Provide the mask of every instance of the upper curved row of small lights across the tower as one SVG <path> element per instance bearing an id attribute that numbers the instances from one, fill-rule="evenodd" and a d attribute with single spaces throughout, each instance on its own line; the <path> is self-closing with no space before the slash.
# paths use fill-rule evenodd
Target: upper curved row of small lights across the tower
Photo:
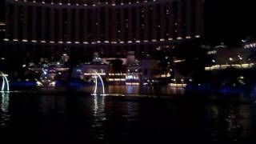
<path id="1" fill-rule="evenodd" d="M 156 0 L 14 0 L 15 2 L 38 2 L 42 4 L 51 4 L 51 5 L 74 5 L 74 6 L 97 6 L 97 5 L 110 5 L 110 6 L 118 6 L 118 5 L 131 5 L 134 3 L 145 3 L 145 2 L 156 2 Z"/>

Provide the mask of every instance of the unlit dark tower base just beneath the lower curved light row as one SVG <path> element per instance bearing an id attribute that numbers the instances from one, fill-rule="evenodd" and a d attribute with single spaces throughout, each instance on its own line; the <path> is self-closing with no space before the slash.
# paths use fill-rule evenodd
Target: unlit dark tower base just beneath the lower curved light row
<path id="1" fill-rule="evenodd" d="M 57 58 L 59 60 L 62 54 L 68 54 L 70 58 L 81 60 L 81 62 L 91 61 L 94 52 L 98 52 L 102 58 L 124 58 L 127 51 L 134 51 L 136 58 L 144 58 L 148 54 L 155 53 L 155 47 L 166 43 L 142 43 L 134 45 L 58 45 L 58 44 L 40 44 L 32 42 L 5 42 L 10 57 L 18 59 L 30 58 L 38 61 L 40 58 Z M 170 42 L 168 46 L 173 46 Z M 6 49 L 7 50 L 7 49 Z M 24 61 L 22 61 L 24 62 Z M 123 75 L 122 75 L 123 76 Z"/>

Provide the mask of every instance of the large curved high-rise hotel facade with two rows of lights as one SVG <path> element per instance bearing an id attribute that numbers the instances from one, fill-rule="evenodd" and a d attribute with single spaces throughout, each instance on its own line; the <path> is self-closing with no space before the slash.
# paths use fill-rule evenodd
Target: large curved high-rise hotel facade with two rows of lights
<path id="1" fill-rule="evenodd" d="M 203 0 L 6 0 L 4 41 L 31 59 L 127 50 L 139 58 L 156 46 L 200 38 L 202 17 Z"/>

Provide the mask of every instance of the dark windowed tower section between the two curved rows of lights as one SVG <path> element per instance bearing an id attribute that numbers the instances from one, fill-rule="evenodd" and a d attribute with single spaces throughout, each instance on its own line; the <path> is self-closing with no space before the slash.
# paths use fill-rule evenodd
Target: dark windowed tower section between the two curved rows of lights
<path id="1" fill-rule="evenodd" d="M 186 27 L 182 27 L 184 29 L 182 34 L 177 35 L 178 20 L 175 14 L 170 15 L 172 13 L 170 6 L 163 7 L 164 13 L 160 5 L 156 6 L 155 12 L 152 6 L 141 6 L 139 9 L 132 9 L 130 16 L 128 9 L 121 11 L 121 9 L 102 8 L 100 12 L 96 11 L 99 13 L 97 18 L 93 18 L 94 10 L 58 10 L 41 6 L 18 6 L 18 18 L 15 18 L 14 6 L 8 7 L 10 16 L 7 18 L 6 38 L 9 39 L 45 39 L 46 41 L 85 39 L 88 42 L 96 39 L 101 42 L 115 40 L 122 43 L 122 41 L 136 42 L 137 40 L 164 41 L 169 38 L 186 38 L 195 34 L 195 27 L 191 27 L 193 32 L 190 30 L 190 34 L 186 33 Z M 18 21 L 18 27 L 15 27 L 16 21 Z M 183 25 L 186 26 L 186 24 Z"/>

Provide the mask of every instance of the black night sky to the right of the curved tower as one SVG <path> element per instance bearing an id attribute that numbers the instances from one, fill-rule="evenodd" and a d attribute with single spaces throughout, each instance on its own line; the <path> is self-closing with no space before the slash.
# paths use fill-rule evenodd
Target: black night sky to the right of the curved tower
<path id="1" fill-rule="evenodd" d="M 235 42 L 256 36 L 254 0 L 205 0 L 205 36 L 212 41 Z"/>

